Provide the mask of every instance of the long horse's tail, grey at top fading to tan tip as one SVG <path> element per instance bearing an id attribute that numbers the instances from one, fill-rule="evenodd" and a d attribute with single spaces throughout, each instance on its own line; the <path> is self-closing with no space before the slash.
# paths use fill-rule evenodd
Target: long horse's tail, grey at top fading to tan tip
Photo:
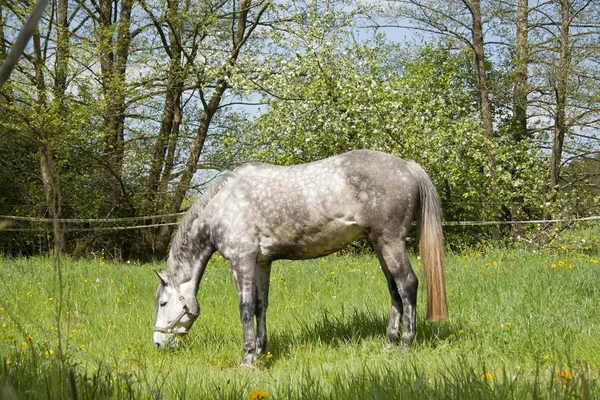
<path id="1" fill-rule="evenodd" d="M 442 232 L 442 205 L 440 196 L 427 173 L 419 164 L 409 162 L 409 170 L 419 182 L 421 207 L 419 247 L 427 281 L 427 319 L 437 321 L 448 317 L 444 234 Z"/>

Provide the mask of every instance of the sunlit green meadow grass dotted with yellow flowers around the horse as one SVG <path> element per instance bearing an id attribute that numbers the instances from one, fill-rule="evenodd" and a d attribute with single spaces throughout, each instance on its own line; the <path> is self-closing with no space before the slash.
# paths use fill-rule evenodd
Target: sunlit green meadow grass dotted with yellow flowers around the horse
<path id="1" fill-rule="evenodd" d="M 174 353 L 152 344 L 164 265 L 1 259 L 2 398 L 450 399 L 599 396 L 598 254 L 450 254 L 450 317 L 424 319 L 408 354 L 384 351 L 389 308 L 375 257 L 273 266 L 269 353 L 241 370 L 228 264 L 213 257 L 201 316 Z M 411 259 L 415 269 L 418 261 Z M 420 271 L 417 271 L 421 276 Z M 62 297 L 62 299 L 61 299 Z"/>

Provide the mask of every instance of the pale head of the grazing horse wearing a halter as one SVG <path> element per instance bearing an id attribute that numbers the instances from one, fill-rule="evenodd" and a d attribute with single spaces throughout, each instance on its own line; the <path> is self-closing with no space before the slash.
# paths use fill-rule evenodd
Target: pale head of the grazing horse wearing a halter
<path id="1" fill-rule="evenodd" d="M 160 283 L 156 291 L 154 310 L 156 325 L 154 326 L 154 344 L 157 349 L 169 346 L 177 347 L 179 338 L 188 333 L 192 324 L 200 314 L 200 306 L 196 296 L 182 293 L 179 285 L 173 284 L 165 271 L 156 272 Z"/>

